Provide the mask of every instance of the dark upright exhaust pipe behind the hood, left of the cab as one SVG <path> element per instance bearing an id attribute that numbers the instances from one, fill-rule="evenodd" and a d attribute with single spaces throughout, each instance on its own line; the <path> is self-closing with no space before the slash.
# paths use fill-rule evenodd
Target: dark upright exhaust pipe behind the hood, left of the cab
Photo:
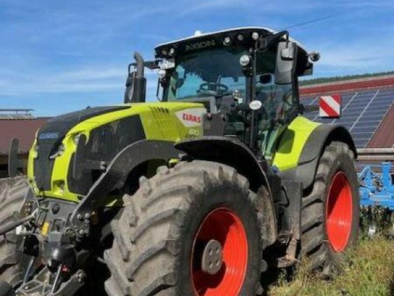
<path id="1" fill-rule="evenodd" d="M 134 52 L 136 71 L 130 72 L 126 80 L 125 103 L 144 103 L 146 101 L 146 78 L 144 77 L 144 59 Z"/>

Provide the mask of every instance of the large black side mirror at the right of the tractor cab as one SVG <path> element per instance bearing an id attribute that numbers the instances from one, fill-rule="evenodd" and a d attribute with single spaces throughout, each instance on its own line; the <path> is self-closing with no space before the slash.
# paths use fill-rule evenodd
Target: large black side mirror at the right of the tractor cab
<path id="1" fill-rule="evenodd" d="M 275 67 L 275 83 L 290 84 L 293 82 L 293 70 L 296 66 L 297 45 L 291 41 L 278 43 Z"/>

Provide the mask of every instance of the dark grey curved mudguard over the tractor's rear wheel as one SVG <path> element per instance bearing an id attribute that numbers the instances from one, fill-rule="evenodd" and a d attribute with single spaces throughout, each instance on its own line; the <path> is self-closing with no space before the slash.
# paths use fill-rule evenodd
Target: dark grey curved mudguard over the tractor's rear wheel
<path id="1" fill-rule="evenodd" d="M 336 124 L 321 124 L 308 137 L 299 156 L 297 167 L 281 172 L 281 177 L 299 181 L 304 189 L 308 188 L 313 184 L 324 148 L 332 141 L 340 141 L 349 145 L 357 158 L 356 146 L 345 127 Z"/>

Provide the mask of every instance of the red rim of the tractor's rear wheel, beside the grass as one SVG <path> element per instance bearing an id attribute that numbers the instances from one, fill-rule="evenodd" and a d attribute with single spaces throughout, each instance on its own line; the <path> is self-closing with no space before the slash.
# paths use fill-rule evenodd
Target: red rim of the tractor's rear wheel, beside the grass
<path id="1" fill-rule="evenodd" d="M 331 248 L 342 252 L 349 241 L 353 221 L 352 187 L 343 172 L 337 172 L 328 189 L 326 228 Z"/>

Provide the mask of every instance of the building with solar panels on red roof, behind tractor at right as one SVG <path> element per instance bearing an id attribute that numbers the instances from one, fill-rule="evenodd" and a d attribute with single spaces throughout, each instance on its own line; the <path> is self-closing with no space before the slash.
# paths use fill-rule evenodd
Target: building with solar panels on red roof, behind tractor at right
<path id="1" fill-rule="evenodd" d="M 300 93 L 306 106 L 318 105 L 320 96 L 341 94 L 340 118 L 320 118 L 318 111 L 306 116 L 344 125 L 355 140 L 360 164 L 394 161 L 394 75 L 315 84 L 301 87 Z"/>

